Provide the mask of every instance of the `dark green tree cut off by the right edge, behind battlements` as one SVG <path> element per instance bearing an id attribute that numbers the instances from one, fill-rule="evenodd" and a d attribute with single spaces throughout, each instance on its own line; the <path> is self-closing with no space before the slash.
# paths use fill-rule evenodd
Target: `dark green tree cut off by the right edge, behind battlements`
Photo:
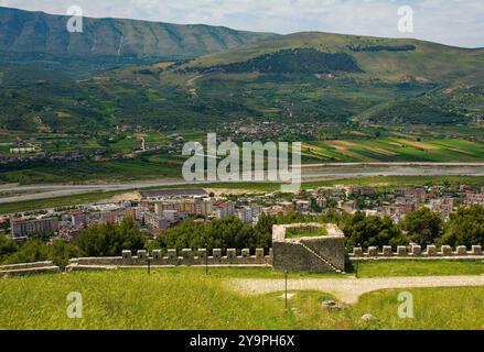
<path id="1" fill-rule="evenodd" d="M 484 207 L 460 208 L 445 224 L 442 245 L 484 245 Z"/>

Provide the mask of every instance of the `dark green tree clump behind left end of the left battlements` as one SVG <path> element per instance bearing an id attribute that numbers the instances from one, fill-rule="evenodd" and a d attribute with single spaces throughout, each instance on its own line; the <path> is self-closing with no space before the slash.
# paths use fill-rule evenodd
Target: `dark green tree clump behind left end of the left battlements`
<path id="1" fill-rule="evenodd" d="M 118 256 L 123 250 L 144 249 L 146 239 L 138 223 L 126 218 L 120 223 L 109 222 L 84 230 L 74 243 L 86 256 Z"/>

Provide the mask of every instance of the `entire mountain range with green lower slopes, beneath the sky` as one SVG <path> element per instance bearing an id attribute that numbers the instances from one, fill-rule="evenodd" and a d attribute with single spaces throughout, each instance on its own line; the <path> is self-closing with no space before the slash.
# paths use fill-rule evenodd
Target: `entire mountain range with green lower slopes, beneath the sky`
<path id="1" fill-rule="evenodd" d="M 68 33 L 66 21 L 0 9 L 0 129 L 455 125 L 483 117 L 484 50 L 117 19 L 85 19 L 84 33 Z"/>

